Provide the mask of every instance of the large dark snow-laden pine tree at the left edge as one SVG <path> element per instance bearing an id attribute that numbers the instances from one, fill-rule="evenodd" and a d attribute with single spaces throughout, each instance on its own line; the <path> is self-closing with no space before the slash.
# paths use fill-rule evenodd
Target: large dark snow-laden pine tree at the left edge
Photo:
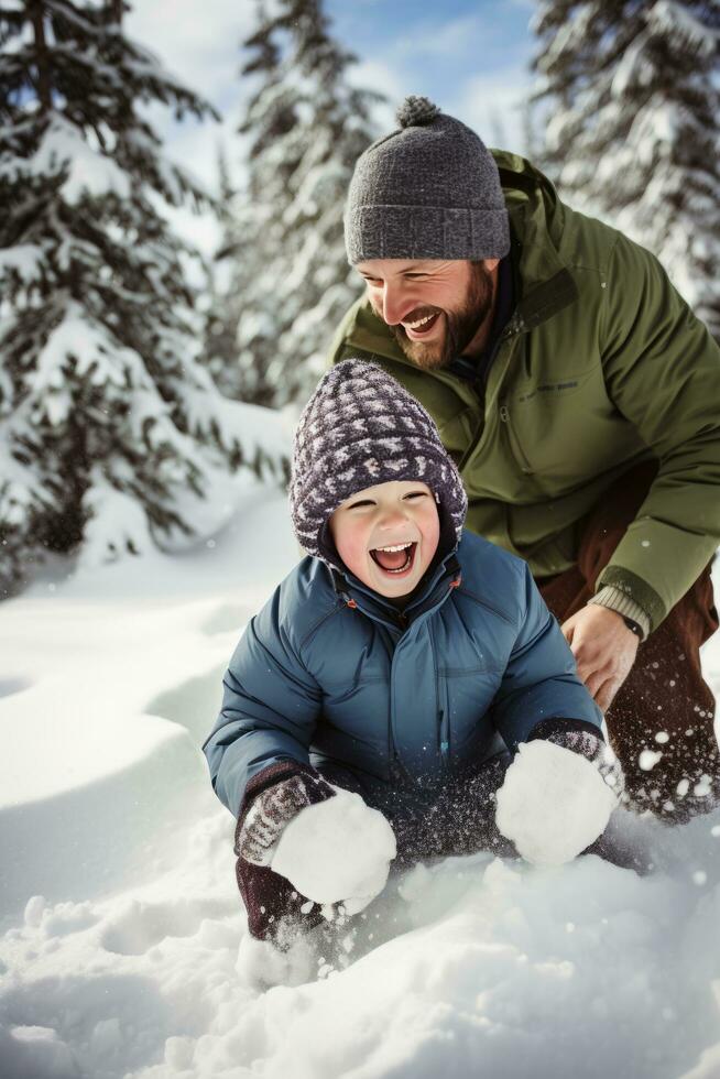
<path id="1" fill-rule="evenodd" d="M 156 208 L 204 195 L 138 106 L 212 110 L 124 36 L 127 10 L 0 2 L 2 591 L 43 549 L 190 532 L 188 494 L 243 458 Z"/>

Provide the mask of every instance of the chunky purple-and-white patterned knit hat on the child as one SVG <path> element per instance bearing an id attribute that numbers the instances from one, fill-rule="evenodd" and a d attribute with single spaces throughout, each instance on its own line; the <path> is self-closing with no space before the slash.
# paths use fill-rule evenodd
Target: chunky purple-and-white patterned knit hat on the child
<path id="1" fill-rule="evenodd" d="M 375 363 L 343 360 L 324 374 L 295 433 L 290 512 L 299 544 L 340 569 L 327 523 L 357 491 L 421 480 L 440 511 L 440 544 L 457 543 L 468 499 L 433 419 Z"/>

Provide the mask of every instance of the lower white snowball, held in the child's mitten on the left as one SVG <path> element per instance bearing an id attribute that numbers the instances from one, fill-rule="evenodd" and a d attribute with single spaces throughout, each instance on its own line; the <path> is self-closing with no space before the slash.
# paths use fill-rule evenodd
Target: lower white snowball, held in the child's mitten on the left
<path id="1" fill-rule="evenodd" d="M 342 903 L 347 914 L 357 914 L 388 882 L 395 835 L 359 794 L 335 791 L 334 798 L 302 809 L 283 829 L 271 868 L 308 900 Z"/>

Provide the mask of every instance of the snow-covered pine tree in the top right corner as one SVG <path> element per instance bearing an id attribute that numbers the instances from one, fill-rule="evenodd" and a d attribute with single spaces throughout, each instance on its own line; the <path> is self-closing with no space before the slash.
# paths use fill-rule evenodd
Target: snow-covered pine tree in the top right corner
<path id="1" fill-rule="evenodd" d="M 720 339 L 718 0 L 543 0 L 535 31 L 560 192 L 653 251 Z"/>

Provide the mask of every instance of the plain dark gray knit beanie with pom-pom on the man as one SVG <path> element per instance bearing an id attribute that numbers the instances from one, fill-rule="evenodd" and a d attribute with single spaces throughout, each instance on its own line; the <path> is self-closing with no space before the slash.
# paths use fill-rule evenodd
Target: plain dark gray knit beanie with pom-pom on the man
<path id="1" fill-rule="evenodd" d="M 406 97 L 399 131 L 358 159 L 345 210 L 348 262 L 502 259 L 508 210 L 492 154 L 426 97 Z"/>

